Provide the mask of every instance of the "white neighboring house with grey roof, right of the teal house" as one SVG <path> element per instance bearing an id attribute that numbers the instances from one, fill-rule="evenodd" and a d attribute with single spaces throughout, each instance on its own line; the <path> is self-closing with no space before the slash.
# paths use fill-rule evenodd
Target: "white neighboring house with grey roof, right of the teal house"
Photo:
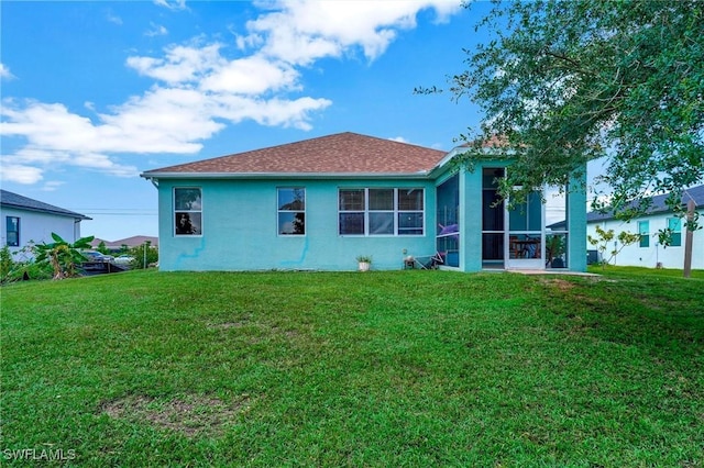
<path id="1" fill-rule="evenodd" d="M 684 243 L 686 227 L 685 220 L 676 218 L 664 203 L 667 194 L 652 198 L 652 205 L 648 214 L 634 219 L 628 223 L 615 220 L 612 213 L 591 212 L 586 215 L 586 231 L 591 236 L 595 236 L 595 226 L 601 226 L 605 231 L 614 230 L 618 235 L 622 231 L 632 234 L 640 234 L 640 242 L 623 248 L 612 264 L 623 266 L 638 266 L 654 268 L 660 264 L 663 268 L 682 268 L 684 266 Z M 688 189 L 682 197 L 682 203 L 694 200 L 695 211 L 700 214 L 698 224 L 704 224 L 704 186 Z M 674 234 L 670 246 L 660 245 L 658 232 L 670 227 Z M 608 246 L 607 252 L 613 249 Z M 594 249 L 587 245 L 587 249 Z M 607 257 L 609 255 L 606 255 Z M 704 230 L 697 230 L 693 236 L 692 268 L 704 269 Z"/>

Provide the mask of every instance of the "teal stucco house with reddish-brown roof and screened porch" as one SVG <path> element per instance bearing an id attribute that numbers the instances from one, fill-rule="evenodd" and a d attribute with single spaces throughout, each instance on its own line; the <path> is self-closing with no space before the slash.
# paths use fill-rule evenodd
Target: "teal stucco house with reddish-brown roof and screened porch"
<path id="1" fill-rule="evenodd" d="M 373 269 L 586 268 L 582 183 L 508 210 L 496 180 L 509 157 L 470 169 L 460 153 L 340 133 L 145 171 L 160 268 L 354 270 L 362 255 Z"/>

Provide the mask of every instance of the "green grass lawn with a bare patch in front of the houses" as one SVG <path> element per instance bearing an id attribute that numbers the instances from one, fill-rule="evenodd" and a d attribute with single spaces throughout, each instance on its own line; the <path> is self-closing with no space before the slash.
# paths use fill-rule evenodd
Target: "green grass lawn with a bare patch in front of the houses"
<path id="1" fill-rule="evenodd" d="M 704 466 L 701 276 L 134 271 L 0 294 L 2 464 Z"/>

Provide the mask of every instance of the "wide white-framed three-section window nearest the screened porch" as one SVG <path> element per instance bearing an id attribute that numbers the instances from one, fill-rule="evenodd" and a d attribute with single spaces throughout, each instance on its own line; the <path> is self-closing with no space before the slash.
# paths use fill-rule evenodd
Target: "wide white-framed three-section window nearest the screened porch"
<path id="1" fill-rule="evenodd" d="M 339 190 L 340 235 L 424 235 L 425 191 L 419 188 Z"/>

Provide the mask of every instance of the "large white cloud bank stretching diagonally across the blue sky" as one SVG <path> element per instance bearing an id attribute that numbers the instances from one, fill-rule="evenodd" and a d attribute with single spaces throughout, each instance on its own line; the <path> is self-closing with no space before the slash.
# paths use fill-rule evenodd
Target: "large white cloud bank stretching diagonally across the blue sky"
<path id="1" fill-rule="evenodd" d="M 186 9 L 183 0 L 155 3 Z M 447 0 L 299 0 L 271 7 L 237 37 L 235 57 L 228 44 L 202 36 L 155 56 L 129 57 L 125 65 L 154 83 L 106 111 L 86 102 L 92 118 L 62 103 L 6 99 L 0 135 L 24 140 L 25 146 L 3 155 L 3 179 L 36 183 L 45 170 L 65 165 L 131 177 L 136 168 L 120 164 L 118 154 L 194 154 L 226 125 L 245 120 L 310 130 L 314 116 L 332 102 L 301 96 L 302 67 L 360 49 L 374 59 L 398 31 L 415 26 L 419 11 L 433 9 L 442 20 L 460 9 Z M 151 31 L 166 33 L 162 27 L 152 23 Z M 11 77 L 1 64 L 0 75 Z"/>

